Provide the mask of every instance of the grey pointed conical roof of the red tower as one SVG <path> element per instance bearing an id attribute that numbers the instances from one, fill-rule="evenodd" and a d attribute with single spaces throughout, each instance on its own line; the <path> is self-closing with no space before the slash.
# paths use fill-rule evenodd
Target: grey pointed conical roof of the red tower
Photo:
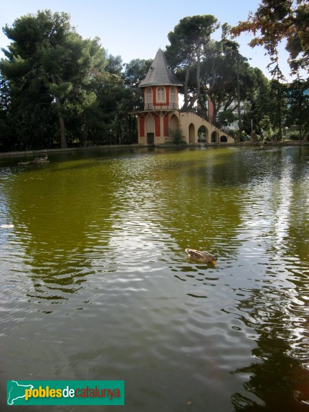
<path id="1" fill-rule="evenodd" d="M 182 86 L 183 84 L 172 72 L 168 60 L 161 49 L 158 50 L 146 78 L 139 83 L 139 87 L 147 86 Z"/>

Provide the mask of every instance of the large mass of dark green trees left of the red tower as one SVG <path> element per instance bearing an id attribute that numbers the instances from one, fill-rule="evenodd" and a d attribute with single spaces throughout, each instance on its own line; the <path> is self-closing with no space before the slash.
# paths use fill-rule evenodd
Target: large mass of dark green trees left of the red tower
<path id="1" fill-rule="evenodd" d="M 108 56 L 99 38 L 82 39 L 66 13 L 28 14 L 4 32 L 12 43 L 0 68 L 10 84 L 6 118 L 15 146 L 66 147 L 121 139 L 115 119 L 124 122 L 128 117 L 123 111 L 131 108 L 132 93 L 124 84 L 120 56 Z"/>

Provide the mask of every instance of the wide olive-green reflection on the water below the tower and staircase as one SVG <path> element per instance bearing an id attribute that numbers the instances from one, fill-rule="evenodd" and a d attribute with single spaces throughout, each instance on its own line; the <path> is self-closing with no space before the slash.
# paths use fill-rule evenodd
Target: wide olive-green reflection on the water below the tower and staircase
<path id="1" fill-rule="evenodd" d="M 151 199 L 152 214 L 160 215 L 158 223 L 162 221 L 163 230 L 181 249 L 194 245 L 220 253 L 221 257 L 233 256 L 242 243 L 238 235 L 244 205 L 248 206 L 247 218 L 251 218 L 251 191 L 259 194 L 259 202 L 265 201 L 264 190 L 273 196 L 271 192 L 282 177 L 282 159 L 290 156 L 280 148 L 155 152 L 157 156 L 148 157 L 148 169 L 143 171 L 144 183 L 148 183 L 143 196 Z M 297 149 L 292 154 L 299 159 Z M 140 165 L 136 166 L 138 172 Z M 259 203 L 259 214 L 267 214 L 260 207 Z"/>

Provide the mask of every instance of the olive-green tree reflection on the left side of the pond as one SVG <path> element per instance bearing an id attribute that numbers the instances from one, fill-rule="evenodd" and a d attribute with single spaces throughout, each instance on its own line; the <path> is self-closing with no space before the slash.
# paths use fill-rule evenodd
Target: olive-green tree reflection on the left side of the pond
<path id="1" fill-rule="evenodd" d="M 98 159 L 75 159 L 28 167 L 12 179 L 8 196 L 30 297 L 67 299 L 93 273 L 111 230 L 113 176 L 107 182 L 102 170 Z"/>

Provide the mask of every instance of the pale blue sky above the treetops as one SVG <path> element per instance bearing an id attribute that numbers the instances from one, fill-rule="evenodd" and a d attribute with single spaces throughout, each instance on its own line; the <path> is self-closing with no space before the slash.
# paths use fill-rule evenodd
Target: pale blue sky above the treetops
<path id="1" fill-rule="evenodd" d="M 168 45 L 168 32 L 179 20 L 196 14 L 213 14 L 220 23 L 236 25 L 246 20 L 249 12 L 257 10 L 260 0 L 10 0 L 1 4 L 0 25 L 12 25 L 24 14 L 36 14 L 37 10 L 50 9 L 53 12 L 68 12 L 71 25 L 84 38 L 99 36 L 102 46 L 114 56 L 122 56 L 123 62 L 134 58 L 154 58 L 157 49 Z M 157 27 L 157 28 L 156 28 Z M 219 39 L 220 33 L 214 38 Z M 247 44 L 248 34 L 242 34 L 237 41 L 240 53 L 251 58 L 250 64 L 259 67 L 269 78 L 266 66 L 268 57 L 262 47 L 251 49 Z M 9 39 L 0 33 L 0 47 L 6 47 Z M 3 54 L 0 54 L 3 56 Z M 280 65 L 287 80 L 288 55 L 284 46 L 280 47 Z"/>

